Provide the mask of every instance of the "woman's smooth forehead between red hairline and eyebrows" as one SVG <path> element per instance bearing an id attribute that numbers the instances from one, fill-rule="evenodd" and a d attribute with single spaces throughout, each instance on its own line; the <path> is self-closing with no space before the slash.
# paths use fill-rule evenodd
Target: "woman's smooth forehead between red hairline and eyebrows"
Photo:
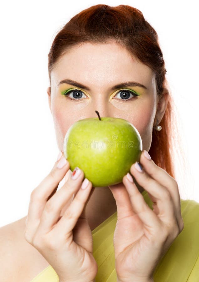
<path id="1" fill-rule="evenodd" d="M 54 65 L 52 83 L 65 78 L 99 85 L 133 79 L 150 86 L 155 76 L 151 68 L 116 42 L 86 42 L 72 47 Z"/>

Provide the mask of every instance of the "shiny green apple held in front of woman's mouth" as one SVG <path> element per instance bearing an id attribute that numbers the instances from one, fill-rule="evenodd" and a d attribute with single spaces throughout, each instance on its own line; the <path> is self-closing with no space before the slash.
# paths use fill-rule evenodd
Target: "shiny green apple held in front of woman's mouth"
<path id="1" fill-rule="evenodd" d="M 93 187 L 115 185 L 142 153 L 138 130 L 122 118 L 85 118 L 73 123 L 64 137 L 70 170 L 78 166 Z"/>

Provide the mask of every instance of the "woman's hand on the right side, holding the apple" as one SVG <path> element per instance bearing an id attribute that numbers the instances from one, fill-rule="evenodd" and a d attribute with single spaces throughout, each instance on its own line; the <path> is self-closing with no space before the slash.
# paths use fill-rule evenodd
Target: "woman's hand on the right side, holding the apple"
<path id="1" fill-rule="evenodd" d="M 153 210 L 126 175 L 121 183 L 109 186 L 117 205 L 113 244 L 118 282 L 153 281 L 158 262 L 184 228 L 176 180 L 144 151 L 140 164 L 142 172 L 133 164 L 130 173 L 147 191 Z"/>

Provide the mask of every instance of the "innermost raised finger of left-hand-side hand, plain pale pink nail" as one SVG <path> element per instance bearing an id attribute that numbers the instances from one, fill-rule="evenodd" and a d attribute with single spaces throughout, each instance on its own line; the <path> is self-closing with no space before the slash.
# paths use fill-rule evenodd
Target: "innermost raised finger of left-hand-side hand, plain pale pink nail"
<path id="1" fill-rule="evenodd" d="M 59 222 L 54 227 L 54 232 L 56 234 L 57 233 L 64 234 L 65 239 L 71 236 L 71 231 L 75 227 L 78 218 L 82 214 L 84 210 L 84 206 L 86 205 L 86 203 L 88 203 L 87 200 L 89 198 L 89 194 L 92 189 L 92 183 L 89 180 L 87 180 L 87 178 L 85 178 L 84 181 L 88 182 L 86 188 L 82 189 L 81 188 L 82 186 L 80 187 L 71 205 L 66 210 L 63 217 L 60 218 Z"/>

